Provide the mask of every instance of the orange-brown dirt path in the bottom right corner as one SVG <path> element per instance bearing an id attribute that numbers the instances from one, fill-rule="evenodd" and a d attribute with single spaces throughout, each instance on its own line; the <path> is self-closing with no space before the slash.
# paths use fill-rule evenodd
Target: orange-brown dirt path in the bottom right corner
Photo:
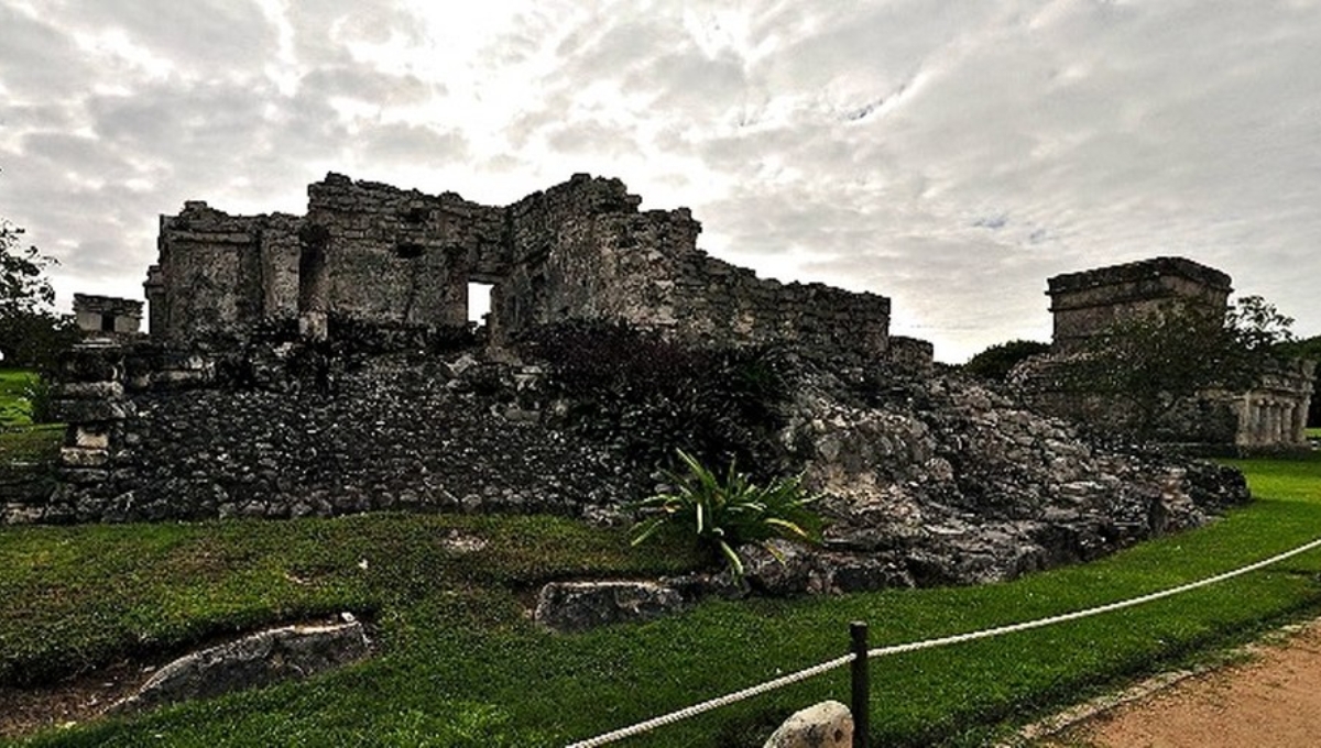
<path id="1" fill-rule="evenodd" d="M 1287 637 L 1268 637 L 1244 662 L 1180 679 L 1038 745 L 1321 745 L 1321 620 Z"/>

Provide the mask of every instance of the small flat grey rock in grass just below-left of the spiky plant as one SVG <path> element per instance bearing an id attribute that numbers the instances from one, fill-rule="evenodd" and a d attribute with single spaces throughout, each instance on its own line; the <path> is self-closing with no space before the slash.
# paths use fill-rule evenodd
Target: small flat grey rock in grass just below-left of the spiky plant
<path id="1" fill-rule="evenodd" d="M 616 623 L 641 623 L 682 609 L 683 595 L 655 582 L 553 582 L 536 599 L 536 623 L 580 632 Z"/>

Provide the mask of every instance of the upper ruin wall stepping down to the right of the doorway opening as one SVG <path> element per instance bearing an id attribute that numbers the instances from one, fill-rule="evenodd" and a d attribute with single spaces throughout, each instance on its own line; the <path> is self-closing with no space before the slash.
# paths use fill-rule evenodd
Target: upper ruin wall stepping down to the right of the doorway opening
<path id="1" fill-rule="evenodd" d="M 687 208 L 639 212 L 639 202 L 617 179 L 580 174 L 518 203 L 513 272 L 495 290 L 506 330 L 624 319 L 705 343 L 885 352 L 885 297 L 758 278 L 699 249 L 701 224 Z"/>

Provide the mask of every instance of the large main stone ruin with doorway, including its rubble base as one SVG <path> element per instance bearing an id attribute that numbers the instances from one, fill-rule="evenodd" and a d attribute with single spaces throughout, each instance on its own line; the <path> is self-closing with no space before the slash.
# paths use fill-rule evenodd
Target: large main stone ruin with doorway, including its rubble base
<path id="1" fill-rule="evenodd" d="M 889 335 L 889 299 L 761 280 L 697 249 L 684 208 L 639 211 L 575 175 L 510 206 L 330 174 L 305 216 L 201 202 L 161 219 L 147 340 L 77 348 L 53 491 L 5 522 L 548 512 L 596 522 L 657 489 L 654 462 L 584 429 L 540 326 L 626 323 L 683 346 L 768 346 L 789 394 L 768 439 L 828 522 L 768 591 L 1005 579 L 1196 526 L 1242 476 L 1089 442 Z M 491 286 L 477 334 L 469 284 Z M 744 466 L 753 467 L 753 466 Z"/>

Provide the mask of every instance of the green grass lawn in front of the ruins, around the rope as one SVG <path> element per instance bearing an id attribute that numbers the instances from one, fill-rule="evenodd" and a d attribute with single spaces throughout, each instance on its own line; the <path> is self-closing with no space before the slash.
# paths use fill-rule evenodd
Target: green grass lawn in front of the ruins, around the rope
<path id="1" fill-rule="evenodd" d="M 1321 536 L 1321 458 L 1236 464 L 1260 500 L 1086 566 L 983 587 L 711 602 L 576 636 L 530 623 L 530 591 L 699 559 L 546 517 L 0 528 L 0 682 L 350 609 L 376 627 L 374 661 L 30 744 L 563 745 L 838 657 L 851 620 L 869 621 L 873 646 L 976 631 L 1168 588 Z M 448 550 L 454 532 L 489 545 Z M 873 743 L 983 744 L 1007 724 L 1321 611 L 1318 573 L 1321 551 L 1308 553 L 1100 617 L 873 661 Z M 621 745 L 761 745 L 787 712 L 847 694 L 840 670 Z"/>

